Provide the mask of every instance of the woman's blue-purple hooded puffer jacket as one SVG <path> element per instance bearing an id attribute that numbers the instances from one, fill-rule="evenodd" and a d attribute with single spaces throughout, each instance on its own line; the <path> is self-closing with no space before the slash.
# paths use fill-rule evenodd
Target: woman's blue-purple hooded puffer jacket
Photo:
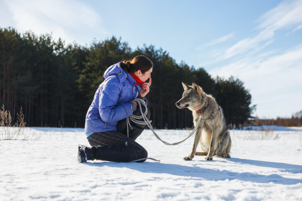
<path id="1" fill-rule="evenodd" d="M 116 124 L 133 114 L 130 101 L 137 98 L 140 86 L 120 67 L 120 62 L 104 73 L 104 82 L 95 92 L 85 120 L 85 134 L 116 130 Z M 147 100 L 145 99 L 147 104 Z"/>

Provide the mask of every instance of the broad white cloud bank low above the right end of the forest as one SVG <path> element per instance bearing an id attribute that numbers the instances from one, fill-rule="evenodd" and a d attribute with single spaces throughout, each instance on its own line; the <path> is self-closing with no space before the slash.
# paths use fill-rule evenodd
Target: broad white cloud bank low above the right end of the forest
<path id="1" fill-rule="evenodd" d="M 243 80 L 251 90 L 253 103 L 258 104 L 256 114 L 272 118 L 291 115 L 300 110 L 295 107 L 302 101 L 302 44 L 283 54 L 272 53 L 245 57 L 215 68 L 210 74 Z"/>

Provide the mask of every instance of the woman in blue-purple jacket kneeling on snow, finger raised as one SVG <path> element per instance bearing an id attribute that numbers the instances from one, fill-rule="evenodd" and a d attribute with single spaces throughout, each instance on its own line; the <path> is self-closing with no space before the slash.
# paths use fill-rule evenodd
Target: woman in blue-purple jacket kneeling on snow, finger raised
<path id="1" fill-rule="evenodd" d="M 140 103 L 133 102 L 134 99 L 143 99 L 147 105 L 145 96 L 149 93 L 152 70 L 150 59 L 139 55 L 105 71 L 105 80 L 98 87 L 86 114 L 85 134 L 92 147 L 79 146 L 79 162 L 94 159 L 130 162 L 147 158 L 146 149 L 134 141 L 144 130 L 144 125 L 130 122 L 133 129 L 129 129 L 127 137 L 126 118 L 133 113 L 141 115 L 137 109 Z M 148 78 L 149 83 L 145 83 Z M 145 107 L 142 109 L 144 112 Z M 149 110 L 147 117 L 150 117 Z"/>

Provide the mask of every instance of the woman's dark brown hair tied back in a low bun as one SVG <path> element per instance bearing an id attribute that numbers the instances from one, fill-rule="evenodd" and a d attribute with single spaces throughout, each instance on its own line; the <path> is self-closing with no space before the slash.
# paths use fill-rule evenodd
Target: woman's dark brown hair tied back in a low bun
<path id="1" fill-rule="evenodd" d="M 142 74 L 144 74 L 153 67 L 153 63 L 148 57 L 144 55 L 138 55 L 131 61 L 123 61 L 122 63 L 120 63 L 120 67 L 124 68 L 128 73 L 134 73 L 140 70 L 142 71 Z"/>

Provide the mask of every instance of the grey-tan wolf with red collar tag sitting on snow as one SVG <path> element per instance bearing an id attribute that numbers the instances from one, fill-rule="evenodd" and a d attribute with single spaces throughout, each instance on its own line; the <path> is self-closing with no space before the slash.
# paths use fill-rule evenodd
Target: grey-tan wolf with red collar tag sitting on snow
<path id="1" fill-rule="evenodd" d="M 192 83 L 192 86 L 189 86 L 182 82 L 182 86 L 185 91 L 182 98 L 176 102 L 176 106 L 191 110 L 194 127 L 198 126 L 194 133 L 191 153 L 184 160 L 192 160 L 194 155 L 206 155 L 206 160 L 213 160 L 213 155 L 230 158 L 231 137 L 226 128 L 222 108 L 213 96 L 204 93 L 197 84 Z M 198 113 L 198 110 L 201 113 Z M 199 115 L 203 115 L 203 117 L 196 125 Z M 202 152 L 196 152 L 198 143 Z"/>

